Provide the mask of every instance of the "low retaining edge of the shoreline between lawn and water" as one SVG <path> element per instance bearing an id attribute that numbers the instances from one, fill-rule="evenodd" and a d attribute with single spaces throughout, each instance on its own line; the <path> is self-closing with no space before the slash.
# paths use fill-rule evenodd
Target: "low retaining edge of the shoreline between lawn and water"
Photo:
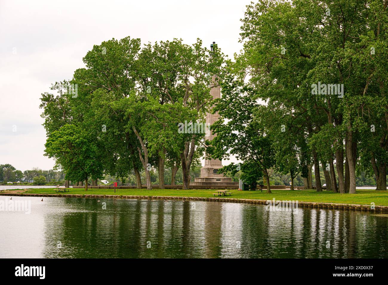
<path id="1" fill-rule="evenodd" d="M 0 196 L 26 196 L 26 197 L 68 197 L 68 198 L 105 198 L 105 199 L 141 199 L 141 200 L 191 200 L 204 202 L 229 202 L 243 204 L 267 205 L 267 200 L 242 199 L 226 197 L 183 197 L 183 196 L 143 196 L 143 195 L 97 195 L 97 194 L 39 194 L 39 193 L 0 193 Z M 279 201 L 279 200 L 276 200 Z M 304 202 L 298 201 L 298 205 L 303 209 L 337 209 L 366 212 L 388 213 L 388 206 L 371 206 L 365 204 L 342 204 L 328 202 Z"/>

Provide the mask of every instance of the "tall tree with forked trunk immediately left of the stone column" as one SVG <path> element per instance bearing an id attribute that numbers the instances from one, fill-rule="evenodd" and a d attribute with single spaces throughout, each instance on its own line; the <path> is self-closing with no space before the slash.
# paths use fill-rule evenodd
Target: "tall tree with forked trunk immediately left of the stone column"
<path id="1" fill-rule="evenodd" d="M 160 41 L 154 45 L 149 43 L 142 50 L 139 60 L 139 82 L 144 93 L 149 92 L 161 105 L 181 104 L 184 107 L 181 118 L 184 120 L 180 123 L 204 122 L 206 112 L 212 105 L 210 90 L 218 87 L 217 83 L 212 83 L 212 79 L 219 73 L 218 68 L 224 60 L 217 45 L 208 50 L 199 39 L 192 46 L 182 43 L 181 39 Z M 166 149 L 167 153 L 171 152 L 170 157 L 176 157 L 176 153 L 179 153 L 184 189 L 189 188 L 192 163 L 198 157 L 198 152 L 203 152 L 203 149 L 199 149 L 203 140 L 204 132 L 178 133 L 176 128 L 175 142 L 170 150 Z M 164 164 L 163 147 L 166 145 L 160 145 L 158 164 Z M 160 182 L 160 174 L 159 178 Z"/>

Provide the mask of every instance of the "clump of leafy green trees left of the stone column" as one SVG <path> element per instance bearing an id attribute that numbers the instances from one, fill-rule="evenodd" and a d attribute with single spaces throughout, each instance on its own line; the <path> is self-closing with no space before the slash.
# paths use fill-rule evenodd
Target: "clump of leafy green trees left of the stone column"
<path id="1" fill-rule="evenodd" d="M 192 46 L 182 40 L 140 47 L 140 39 L 104 41 L 83 58 L 71 81 L 43 93 L 46 155 L 66 172 L 66 179 L 96 185 L 104 174 L 123 177 L 134 171 L 142 187 L 152 188 L 150 171 L 158 169 L 164 188 L 165 164 L 171 184 L 182 169 L 189 188 L 191 165 L 203 153 L 204 132 L 178 132 L 184 122 L 204 123 L 212 104 L 210 83 L 224 62 L 215 45 Z"/>

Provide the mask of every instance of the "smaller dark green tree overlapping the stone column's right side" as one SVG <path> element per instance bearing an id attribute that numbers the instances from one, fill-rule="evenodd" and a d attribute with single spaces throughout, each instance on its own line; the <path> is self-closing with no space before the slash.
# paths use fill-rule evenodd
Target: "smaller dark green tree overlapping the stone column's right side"
<path id="1" fill-rule="evenodd" d="M 230 68 L 233 68 L 231 63 L 225 69 Z M 211 126 L 217 136 L 211 140 L 207 152 L 218 159 L 228 159 L 232 154 L 247 165 L 255 165 L 264 174 L 270 193 L 269 170 L 275 164 L 275 152 L 260 116 L 265 107 L 258 104 L 252 89 L 234 80 L 232 72 L 227 70 L 223 76 L 223 96 L 213 108 L 220 118 Z M 243 86 L 242 93 L 239 86 Z"/>

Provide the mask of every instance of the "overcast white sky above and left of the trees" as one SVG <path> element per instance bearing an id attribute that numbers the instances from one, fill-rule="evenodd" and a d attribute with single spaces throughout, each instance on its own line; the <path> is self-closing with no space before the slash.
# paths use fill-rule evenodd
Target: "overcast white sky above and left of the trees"
<path id="1" fill-rule="evenodd" d="M 233 57 L 250 0 L 8 1 L 0 0 L 0 164 L 51 169 L 40 94 L 71 79 L 82 57 L 111 38 L 216 41 Z M 232 160 L 234 161 L 234 159 Z M 229 164 L 227 162 L 226 164 Z"/>

